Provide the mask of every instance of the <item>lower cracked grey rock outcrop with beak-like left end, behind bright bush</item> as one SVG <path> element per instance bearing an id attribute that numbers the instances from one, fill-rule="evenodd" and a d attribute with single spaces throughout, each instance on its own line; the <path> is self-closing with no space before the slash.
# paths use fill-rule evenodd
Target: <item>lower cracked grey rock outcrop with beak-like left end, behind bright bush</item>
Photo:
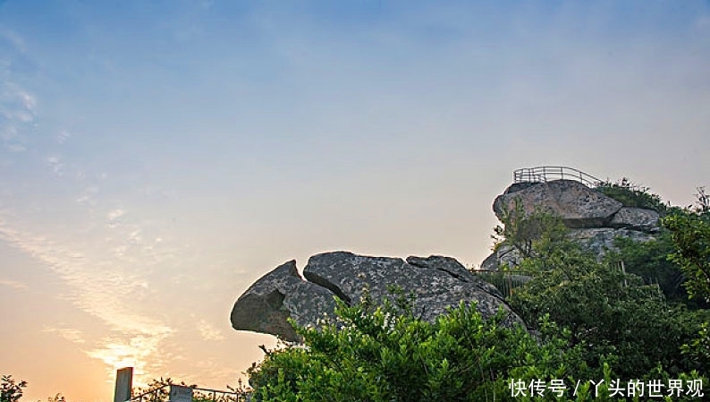
<path id="1" fill-rule="evenodd" d="M 463 301 L 476 303 L 488 318 L 499 308 L 510 312 L 503 295 L 471 274 L 450 257 L 368 257 L 352 252 L 325 252 L 309 259 L 303 278 L 289 261 L 258 279 L 240 296 L 232 309 L 232 327 L 273 334 L 287 340 L 298 337 L 286 321 L 292 317 L 302 326 L 315 325 L 323 313 L 332 316 L 334 297 L 358 303 L 363 289 L 376 301 L 392 297 L 390 287 L 416 295 L 414 311 L 423 320 L 435 321 L 449 307 Z M 508 324 L 522 322 L 510 312 Z"/>

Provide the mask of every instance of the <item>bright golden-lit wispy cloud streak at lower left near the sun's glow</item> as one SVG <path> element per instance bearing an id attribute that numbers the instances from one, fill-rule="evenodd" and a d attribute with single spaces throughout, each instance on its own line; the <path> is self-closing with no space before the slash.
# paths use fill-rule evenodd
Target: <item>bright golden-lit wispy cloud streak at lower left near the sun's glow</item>
<path id="1" fill-rule="evenodd" d="M 125 213 L 123 210 L 112 212 L 109 215 L 114 218 Z M 1 217 L 0 241 L 46 264 L 67 285 L 69 294 L 65 297 L 106 325 L 112 335 L 89 346 L 85 353 L 107 364 L 109 375 L 122 364 L 133 365 L 139 370 L 162 367 L 164 357 L 158 349 L 173 329 L 154 317 L 134 312 L 135 305 L 131 304 L 131 297 L 147 287 L 145 278 L 122 269 L 121 261 L 91 259 L 59 242 L 16 230 Z M 8 280 L 0 281 L 0 284 L 22 287 L 22 284 Z M 48 326 L 45 331 L 78 344 L 88 344 L 76 329 Z"/>

